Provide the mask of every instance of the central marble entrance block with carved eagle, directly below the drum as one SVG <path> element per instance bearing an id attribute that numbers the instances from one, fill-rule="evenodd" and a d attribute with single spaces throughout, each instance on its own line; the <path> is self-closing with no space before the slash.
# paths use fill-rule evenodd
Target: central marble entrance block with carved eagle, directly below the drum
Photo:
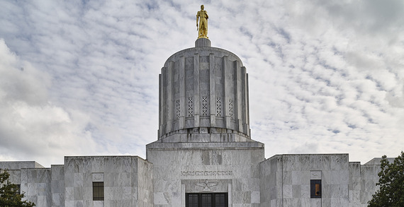
<path id="1" fill-rule="evenodd" d="M 232 206 L 259 206 L 264 146 L 243 143 L 151 143 L 155 206 L 185 206 L 185 194 L 227 192 Z"/>

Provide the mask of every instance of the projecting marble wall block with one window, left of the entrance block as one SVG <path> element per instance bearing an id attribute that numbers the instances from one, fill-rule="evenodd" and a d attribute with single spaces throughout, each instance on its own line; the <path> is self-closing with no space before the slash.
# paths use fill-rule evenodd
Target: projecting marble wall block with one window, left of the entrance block
<path id="1" fill-rule="evenodd" d="M 65 206 L 152 206 L 151 169 L 132 156 L 65 157 Z M 93 201 L 94 174 L 102 175 L 104 201 Z"/>

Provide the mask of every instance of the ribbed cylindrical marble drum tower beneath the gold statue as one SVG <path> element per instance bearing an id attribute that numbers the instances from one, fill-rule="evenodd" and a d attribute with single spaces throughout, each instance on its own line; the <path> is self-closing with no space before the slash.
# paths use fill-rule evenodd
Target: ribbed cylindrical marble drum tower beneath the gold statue
<path id="1" fill-rule="evenodd" d="M 198 39 L 196 47 L 165 62 L 159 75 L 159 139 L 218 133 L 249 138 L 246 69 L 235 54 L 207 47 L 210 43 Z"/>

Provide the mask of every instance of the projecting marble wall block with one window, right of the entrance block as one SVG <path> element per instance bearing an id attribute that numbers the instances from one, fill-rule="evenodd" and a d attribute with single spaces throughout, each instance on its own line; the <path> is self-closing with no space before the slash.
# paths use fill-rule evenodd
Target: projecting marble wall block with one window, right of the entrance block
<path id="1" fill-rule="evenodd" d="M 270 197 L 262 206 L 349 206 L 348 164 L 347 154 L 275 155 L 261 164 L 262 179 L 271 183 L 262 184 Z M 315 176 L 322 180 L 321 199 L 310 199 Z"/>

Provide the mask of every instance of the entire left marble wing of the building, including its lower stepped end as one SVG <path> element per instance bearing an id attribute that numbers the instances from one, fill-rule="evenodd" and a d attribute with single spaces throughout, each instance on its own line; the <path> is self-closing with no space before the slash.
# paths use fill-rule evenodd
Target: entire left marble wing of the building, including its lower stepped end
<path id="1" fill-rule="evenodd" d="M 65 157 L 50 168 L 0 162 L 0 169 L 36 206 L 153 206 L 152 165 L 137 156 Z M 93 201 L 97 181 L 104 182 L 103 201 Z"/>

